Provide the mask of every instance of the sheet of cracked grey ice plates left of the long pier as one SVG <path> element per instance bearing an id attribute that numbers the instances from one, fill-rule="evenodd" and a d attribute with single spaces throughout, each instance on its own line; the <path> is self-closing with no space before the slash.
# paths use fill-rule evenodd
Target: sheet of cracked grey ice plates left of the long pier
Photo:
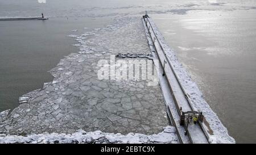
<path id="1" fill-rule="evenodd" d="M 81 44 L 79 52 L 50 71 L 52 82 L 20 98 L 23 104 L 0 123 L 0 133 L 161 132 L 168 120 L 159 85 L 97 78 L 98 60 L 118 53 L 150 54 L 141 17 L 117 18 L 75 38 Z"/>

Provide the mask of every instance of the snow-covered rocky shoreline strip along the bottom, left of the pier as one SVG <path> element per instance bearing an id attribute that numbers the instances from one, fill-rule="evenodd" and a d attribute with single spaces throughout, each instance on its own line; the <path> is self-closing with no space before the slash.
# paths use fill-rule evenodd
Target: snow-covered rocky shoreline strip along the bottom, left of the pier
<path id="1" fill-rule="evenodd" d="M 76 143 L 76 144 L 89 144 L 89 143 L 125 143 L 125 144 L 176 144 L 177 136 L 175 128 L 167 126 L 158 134 L 143 135 L 141 133 L 128 133 L 122 135 L 121 133 L 105 133 L 101 131 L 85 132 L 79 130 L 72 134 L 65 133 L 41 133 L 31 134 L 27 136 L 17 135 L 0 135 L 0 144 L 53 144 L 53 143 Z"/>

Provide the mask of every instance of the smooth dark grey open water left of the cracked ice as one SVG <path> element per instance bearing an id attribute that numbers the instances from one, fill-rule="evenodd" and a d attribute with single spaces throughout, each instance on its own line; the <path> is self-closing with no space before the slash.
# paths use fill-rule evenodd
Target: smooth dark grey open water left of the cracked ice
<path id="1" fill-rule="evenodd" d="M 72 30 L 90 31 L 110 21 L 109 18 L 51 18 L 48 21 L 1 22 L 0 110 L 17 107 L 20 95 L 51 81 L 52 76 L 47 71 L 63 56 L 77 52 L 72 46 L 76 41 L 67 37 Z"/>

